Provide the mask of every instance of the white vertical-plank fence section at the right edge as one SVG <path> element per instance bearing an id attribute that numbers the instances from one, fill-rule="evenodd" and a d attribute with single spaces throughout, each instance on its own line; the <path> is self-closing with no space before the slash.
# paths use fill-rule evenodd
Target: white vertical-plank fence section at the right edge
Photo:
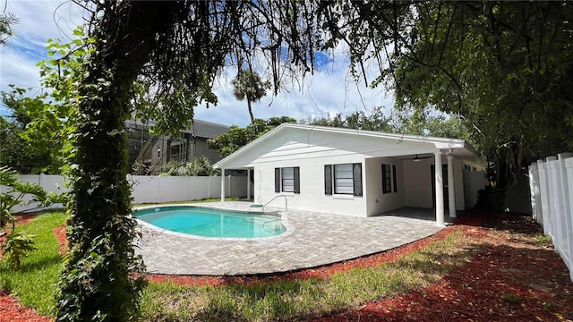
<path id="1" fill-rule="evenodd" d="M 529 165 L 531 208 L 543 233 L 569 268 L 573 281 L 573 154 L 561 153 Z"/>

